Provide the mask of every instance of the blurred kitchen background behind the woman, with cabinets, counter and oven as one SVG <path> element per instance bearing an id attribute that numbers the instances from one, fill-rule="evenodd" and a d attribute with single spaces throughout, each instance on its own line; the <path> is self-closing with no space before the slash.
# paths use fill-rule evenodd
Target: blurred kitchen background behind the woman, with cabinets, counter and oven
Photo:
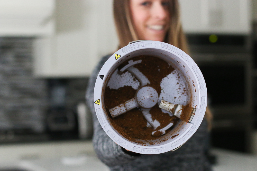
<path id="1" fill-rule="evenodd" d="M 257 0 L 180 4 L 214 114 L 214 169 L 256 168 Z M 93 152 L 85 91 L 94 66 L 117 44 L 111 0 L 0 1 L 0 164 L 10 163 L 4 168 L 108 170 Z M 226 158 L 246 162 L 222 163 Z"/>

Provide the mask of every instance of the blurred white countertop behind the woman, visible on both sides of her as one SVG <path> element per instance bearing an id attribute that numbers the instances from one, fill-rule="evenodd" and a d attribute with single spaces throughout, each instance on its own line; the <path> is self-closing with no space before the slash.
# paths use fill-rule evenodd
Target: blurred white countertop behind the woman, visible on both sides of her
<path id="1" fill-rule="evenodd" d="M 257 156 L 213 149 L 217 156 L 214 171 L 257 171 Z M 2 169 L 29 171 L 109 171 L 96 156 L 90 141 L 0 145 Z"/>

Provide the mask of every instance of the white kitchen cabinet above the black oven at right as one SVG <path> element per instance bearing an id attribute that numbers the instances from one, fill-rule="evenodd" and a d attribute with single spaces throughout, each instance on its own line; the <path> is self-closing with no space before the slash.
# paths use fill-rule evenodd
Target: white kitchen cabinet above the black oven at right
<path id="1" fill-rule="evenodd" d="M 251 32 L 250 0 L 179 0 L 186 33 L 243 34 Z"/>

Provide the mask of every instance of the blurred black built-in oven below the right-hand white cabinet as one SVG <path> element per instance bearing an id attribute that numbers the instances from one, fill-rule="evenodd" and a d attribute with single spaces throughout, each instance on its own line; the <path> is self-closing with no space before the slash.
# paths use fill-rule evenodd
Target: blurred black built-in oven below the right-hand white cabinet
<path id="1" fill-rule="evenodd" d="M 208 105 L 213 114 L 210 144 L 250 152 L 255 101 L 251 38 L 213 33 L 186 36 L 190 55 L 208 87 Z M 212 36 L 216 36 L 216 42 L 211 42 Z"/>

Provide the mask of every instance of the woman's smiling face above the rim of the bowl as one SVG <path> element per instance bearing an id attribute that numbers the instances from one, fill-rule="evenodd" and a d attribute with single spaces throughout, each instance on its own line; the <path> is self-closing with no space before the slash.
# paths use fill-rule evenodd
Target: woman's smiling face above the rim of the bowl
<path id="1" fill-rule="evenodd" d="M 130 0 L 130 12 L 140 40 L 164 41 L 170 24 L 168 0 Z"/>

